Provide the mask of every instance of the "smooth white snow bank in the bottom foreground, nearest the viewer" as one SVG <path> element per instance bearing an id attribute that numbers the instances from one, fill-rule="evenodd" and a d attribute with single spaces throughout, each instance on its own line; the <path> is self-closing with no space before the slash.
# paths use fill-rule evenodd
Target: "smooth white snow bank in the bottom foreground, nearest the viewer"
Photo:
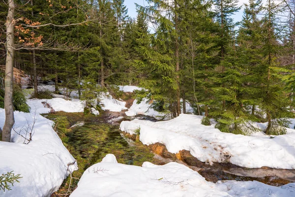
<path id="1" fill-rule="evenodd" d="M 214 184 L 182 164 L 118 164 L 109 154 L 84 172 L 70 197 L 292 197 L 294 187 L 267 186 L 256 181 Z"/>

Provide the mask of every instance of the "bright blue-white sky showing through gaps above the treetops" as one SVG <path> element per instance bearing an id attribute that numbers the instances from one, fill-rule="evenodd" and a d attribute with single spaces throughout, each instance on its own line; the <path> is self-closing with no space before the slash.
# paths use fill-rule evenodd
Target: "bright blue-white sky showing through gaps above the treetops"
<path id="1" fill-rule="evenodd" d="M 239 0 L 238 5 L 242 5 L 244 2 L 247 2 L 248 0 Z M 137 3 L 139 5 L 147 5 L 146 0 L 125 0 L 124 4 L 128 8 L 128 15 L 131 16 L 132 18 L 136 18 L 136 7 L 135 4 Z M 243 16 L 243 9 L 241 9 L 239 12 L 236 13 L 236 15 L 233 16 L 235 22 L 241 21 Z"/>

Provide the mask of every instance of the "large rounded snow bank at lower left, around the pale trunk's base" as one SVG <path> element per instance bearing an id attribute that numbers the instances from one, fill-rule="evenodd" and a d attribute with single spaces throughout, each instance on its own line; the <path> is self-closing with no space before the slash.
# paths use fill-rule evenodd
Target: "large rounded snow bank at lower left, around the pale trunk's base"
<path id="1" fill-rule="evenodd" d="M 0 108 L 1 128 L 4 114 L 4 109 Z M 15 111 L 14 117 L 18 132 L 34 121 L 32 113 Z M 35 117 L 34 134 L 29 144 L 24 144 L 24 139 L 14 131 L 11 133 L 14 143 L 0 141 L 0 174 L 14 171 L 23 177 L 11 191 L 0 191 L 0 197 L 48 197 L 59 189 L 68 175 L 67 168 L 70 171 L 77 169 L 77 165 L 72 164 L 75 159 L 52 129 L 53 122 L 38 114 Z"/>

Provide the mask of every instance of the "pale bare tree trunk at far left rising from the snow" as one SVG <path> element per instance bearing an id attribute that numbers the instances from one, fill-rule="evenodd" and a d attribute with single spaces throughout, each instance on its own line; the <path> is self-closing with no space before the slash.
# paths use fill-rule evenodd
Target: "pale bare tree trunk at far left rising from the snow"
<path id="1" fill-rule="evenodd" d="M 5 109 L 5 123 L 2 131 L 2 141 L 10 142 L 11 129 L 14 125 L 13 113 L 13 56 L 14 56 L 14 0 L 8 1 L 8 13 L 6 19 L 6 64 L 5 64 L 5 95 L 4 95 L 4 109 Z"/>

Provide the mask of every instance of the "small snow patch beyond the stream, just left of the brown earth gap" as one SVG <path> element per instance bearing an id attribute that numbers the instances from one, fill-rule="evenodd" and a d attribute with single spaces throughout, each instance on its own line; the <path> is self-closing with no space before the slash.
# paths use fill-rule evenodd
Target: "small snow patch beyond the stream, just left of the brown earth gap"
<path id="1" fill-rule="evenodd" d="M 127 109 L 125 107 L 126 102 L 113 99 L 109 93 L 101 93 L 98 97 L 99 104 L 102 105 L 102 110 L 110 110 L 120 112 L 121 110 Z"/>

